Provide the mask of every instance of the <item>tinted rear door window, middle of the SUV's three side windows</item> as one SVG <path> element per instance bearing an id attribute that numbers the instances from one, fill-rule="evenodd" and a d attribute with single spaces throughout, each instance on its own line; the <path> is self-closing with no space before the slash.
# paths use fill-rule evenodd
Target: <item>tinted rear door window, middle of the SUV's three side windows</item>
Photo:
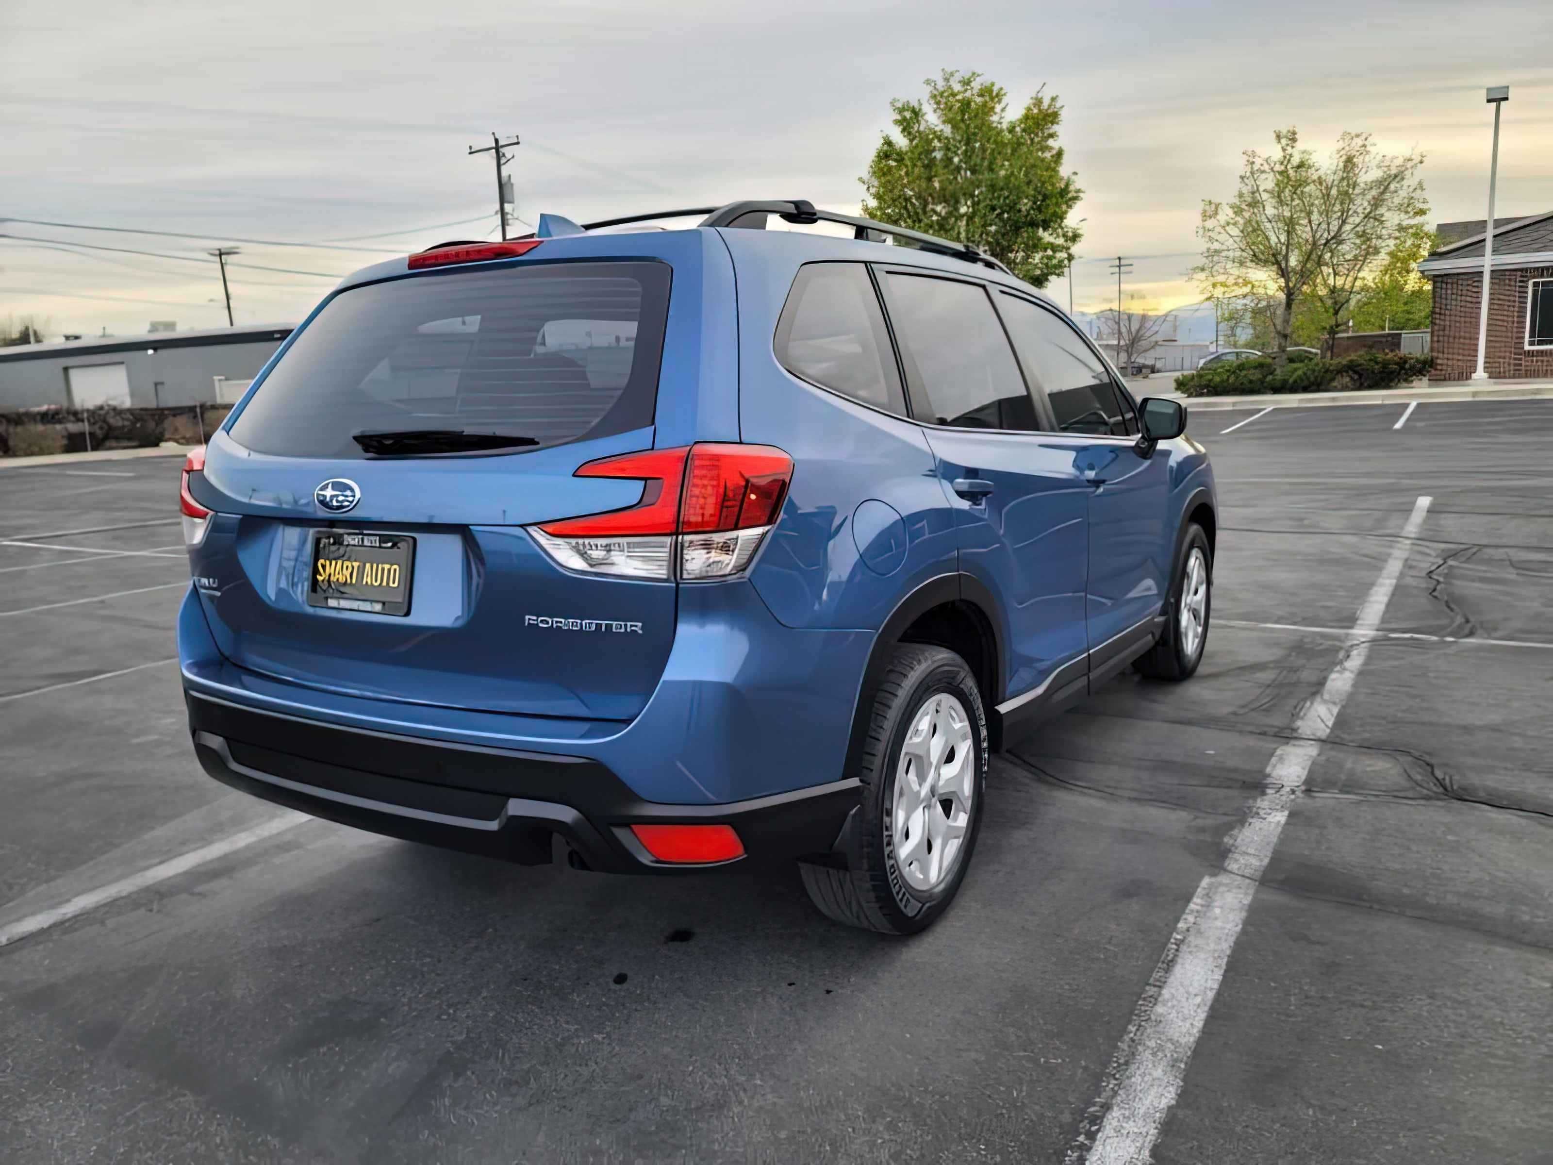
<path id="1" fill-rule="evenodd" d="M 926 398 L 918 419 L 971 429 L 1041 427 L 1008 337 L 978 284 L 891 272 L 887 286 L 895 336 L 918 382 L 913 393 Z"/>

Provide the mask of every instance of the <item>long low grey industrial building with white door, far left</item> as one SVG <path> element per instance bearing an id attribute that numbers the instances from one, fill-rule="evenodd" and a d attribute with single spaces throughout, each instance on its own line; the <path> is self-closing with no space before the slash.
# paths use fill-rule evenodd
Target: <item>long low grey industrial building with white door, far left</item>
<path id="1" fill-rule="evenodd" d="M 236 401 L 295 325 L 152 331 L 0 348 L 0 413 Z"/>

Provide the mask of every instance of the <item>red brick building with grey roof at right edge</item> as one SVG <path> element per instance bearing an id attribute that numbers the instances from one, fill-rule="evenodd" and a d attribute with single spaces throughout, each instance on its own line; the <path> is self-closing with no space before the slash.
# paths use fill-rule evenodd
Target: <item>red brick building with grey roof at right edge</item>
<path id="1" fill-rule="evenodd" d="M 1443 222 L 1444 242 L 1418 264 L 1433 283 L 1430 381 L 1477 371 L 1485 221 Z M 1494 222 L 1483 370 L 1496 381 L 1553 379 L 1553 211 Z"/>

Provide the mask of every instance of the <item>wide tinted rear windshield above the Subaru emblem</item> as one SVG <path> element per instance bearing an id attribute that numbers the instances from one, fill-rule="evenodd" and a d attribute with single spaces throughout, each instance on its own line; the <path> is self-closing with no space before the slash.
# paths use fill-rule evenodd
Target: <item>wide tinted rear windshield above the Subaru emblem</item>
<path id="1" fill-rule="evenodd" d="M 353 287 L 233 423 L 247 449 L 367 457 L 357 433 L 463 430 L 551 446 L 652 424 L 663 263 L 550 263 Z"/>

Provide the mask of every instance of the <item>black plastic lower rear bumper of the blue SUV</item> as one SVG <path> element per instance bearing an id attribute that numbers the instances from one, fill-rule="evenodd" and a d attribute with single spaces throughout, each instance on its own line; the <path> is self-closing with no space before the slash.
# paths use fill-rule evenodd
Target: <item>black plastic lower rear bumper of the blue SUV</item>
<path id="1" fill-rule="evenodd" d="M 185 690 L 194 752 L 235 789 L 373 833 L 548 862 L 561 839 L 592 870 L 666 873 L 632 823 L 724 823 L 752 857 L 832 848 L 856 780 L 725 805 L 643 802 L 585 756 L 483 749 L 258 711 Z"/>

